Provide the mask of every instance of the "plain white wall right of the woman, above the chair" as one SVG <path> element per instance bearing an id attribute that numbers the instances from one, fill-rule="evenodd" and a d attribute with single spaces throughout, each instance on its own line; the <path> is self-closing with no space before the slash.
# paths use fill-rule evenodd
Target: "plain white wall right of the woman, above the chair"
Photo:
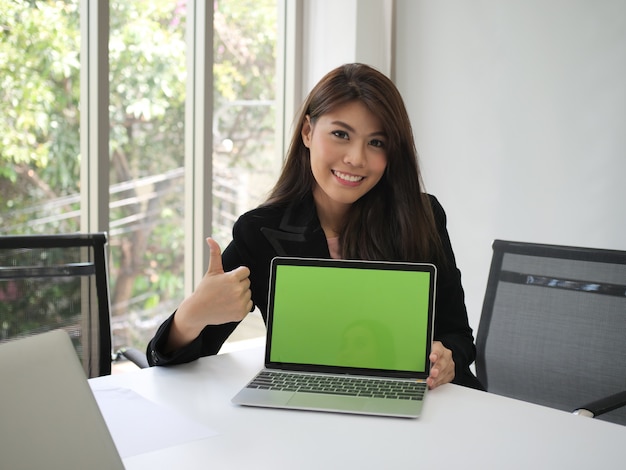
<path id="1" fill-rule="evenodd" d="M 396 0 L 395 22 L 475 329 L 493 239 L 626 250 L 626 2 Z"/>

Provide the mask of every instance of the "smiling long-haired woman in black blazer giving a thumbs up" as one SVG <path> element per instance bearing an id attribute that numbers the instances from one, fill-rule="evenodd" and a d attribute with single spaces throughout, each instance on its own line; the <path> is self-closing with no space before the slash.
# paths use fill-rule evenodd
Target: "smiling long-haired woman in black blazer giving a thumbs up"
<path id="1" fill-rule="evenodd" d="M 438 201 L 422 190 L 402 97 L 380 72 L 347 64 L 303 104 L 268 200 L 235 223 L 233 240 L 207 239 L 208 270 L 148 345 L 151 365 L 216 354 L 256 305 L 267 318 L 275 256 L 431 262 L 438 267 L 428 385 L 481 388 L 460 273 Z"/>

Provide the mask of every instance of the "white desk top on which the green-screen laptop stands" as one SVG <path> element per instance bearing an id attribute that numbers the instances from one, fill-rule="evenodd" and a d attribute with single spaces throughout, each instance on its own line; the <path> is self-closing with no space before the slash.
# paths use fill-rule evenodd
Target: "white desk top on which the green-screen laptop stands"
<path id="1" fill-rule="evenodd" d="M 130 388 L 218 435 L 124 459 L 128 469 L 623 469 L 626 427 L 456 385 L 417 420 L 238 407 L 262 348 L 91 379 Z M 167 433 L 167 429 L 163 429 Z"/>

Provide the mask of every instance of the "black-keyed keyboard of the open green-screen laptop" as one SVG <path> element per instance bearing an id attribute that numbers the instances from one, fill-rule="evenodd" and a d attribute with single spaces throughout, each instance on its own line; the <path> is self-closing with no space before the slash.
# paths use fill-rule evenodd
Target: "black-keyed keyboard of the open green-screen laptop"
<path id="1" fill-rule="evenodd" d="M 262 371 L 248 388 L 357 397 L 421 400 L 425 382 Z"/>

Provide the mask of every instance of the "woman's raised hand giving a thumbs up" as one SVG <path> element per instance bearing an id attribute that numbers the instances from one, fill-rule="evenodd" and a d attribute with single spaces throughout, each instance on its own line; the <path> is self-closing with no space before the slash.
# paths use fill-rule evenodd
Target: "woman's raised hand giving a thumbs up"
<path id="1" fill-rule="evenodd" d="M 196 290 L 180 304 L 170 330 L 168 349 L 193 341 L 207 325 L 241 321 L 252 310 L 250 270 L 240 266 L 224 272 L 222 252 L 212 238 L 209 267 Z"/>

